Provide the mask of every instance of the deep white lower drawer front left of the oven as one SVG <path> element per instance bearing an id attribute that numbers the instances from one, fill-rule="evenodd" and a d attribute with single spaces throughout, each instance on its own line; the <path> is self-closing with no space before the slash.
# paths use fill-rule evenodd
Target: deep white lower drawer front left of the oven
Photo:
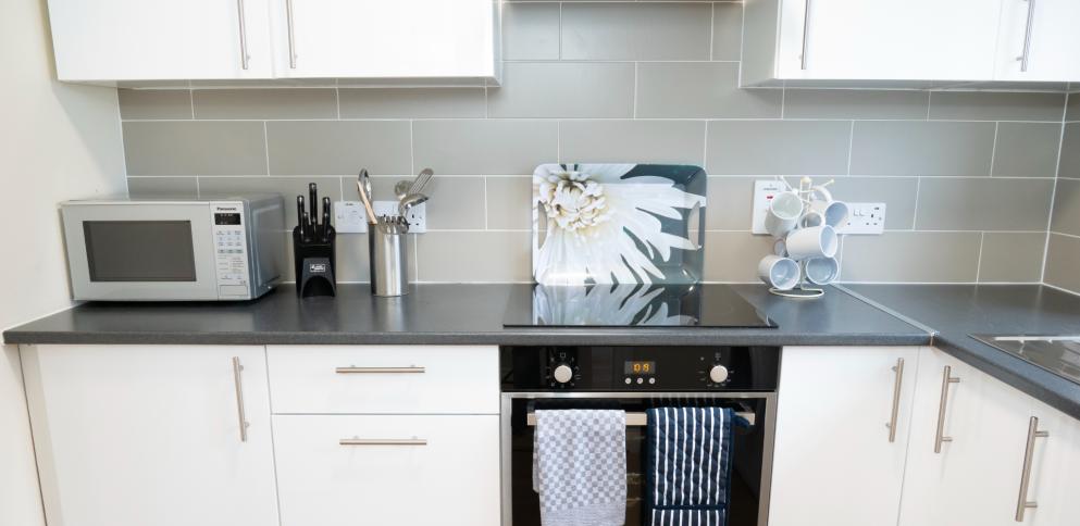
<path id="1" fill-rule="evenodd" d="M 274 442 L 283 526 L 499 524 L 498 416 L 277 415 Z"/>

